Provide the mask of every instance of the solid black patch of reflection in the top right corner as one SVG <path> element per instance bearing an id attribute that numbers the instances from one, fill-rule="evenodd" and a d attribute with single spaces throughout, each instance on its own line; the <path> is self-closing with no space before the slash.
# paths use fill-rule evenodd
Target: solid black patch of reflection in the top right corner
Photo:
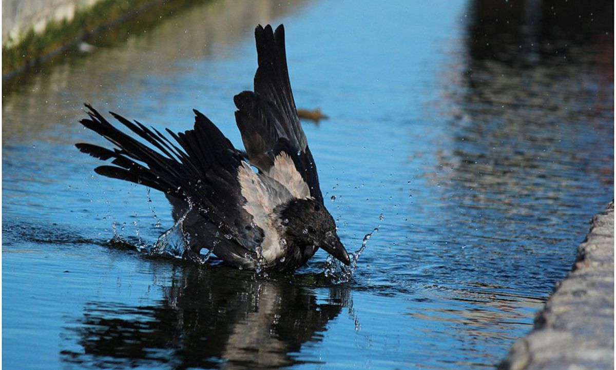
<path id="1" fill-rule="evenodd" d="M 532 67 L 580 63 L 609 47 L 612 1 L 490 1 L 469 4 L 466 48 L 474 61 Z"/>

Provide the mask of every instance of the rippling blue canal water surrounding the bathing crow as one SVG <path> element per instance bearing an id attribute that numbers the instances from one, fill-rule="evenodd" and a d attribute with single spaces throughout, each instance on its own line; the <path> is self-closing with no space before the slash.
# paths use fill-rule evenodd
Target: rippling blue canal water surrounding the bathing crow
<path id="1" fill-rule="evenodd" d="M 4 368 L 495 366 L 613 197 L 614 61 L 613 12 L 488 3 L 206 2 L 5 89 Z M 241 146 L 270 22 L 298 106 L 330 116 L 303 127 L 342 241 L 379 229 L 346 283 L 322 251 L 269 277 L 137 252 L 168 203 L 73 146 L 102 143 L 84 101 L 175 131 L 197 108 Z"/>

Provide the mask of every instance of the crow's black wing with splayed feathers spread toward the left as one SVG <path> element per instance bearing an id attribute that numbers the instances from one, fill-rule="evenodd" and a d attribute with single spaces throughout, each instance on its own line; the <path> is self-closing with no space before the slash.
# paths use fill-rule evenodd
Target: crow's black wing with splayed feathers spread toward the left
<path id="1" fill-rule="evenodd" d="M 238 183 L 238 168 L 244 155 L 233 148 L 206 116 L 195 111 L 192 130 L 173 133 L 167 129 L 174 143 L 155 128 L 111 113 L 148 143 L 145 144 L 113 127 L 94 108 L 86 106 L 89 119 L 81 120 L 81 124 L 117 147 L 106 149 L 94 144 L 76 144 L 80 151 L 92 157 L 113 159 L 111 165 L 95 168 L 96 173 L 143 184 L 184 200 L 190 208 L 198 210 L 204 222 L 220 230 L 211 240 L 219 237 L 225 244 L 235 240 L 249 251 L 254 251 L 261 243 L 263 231 L 254 226 L 253 217 L 244 210 L 246 200 Z"/>

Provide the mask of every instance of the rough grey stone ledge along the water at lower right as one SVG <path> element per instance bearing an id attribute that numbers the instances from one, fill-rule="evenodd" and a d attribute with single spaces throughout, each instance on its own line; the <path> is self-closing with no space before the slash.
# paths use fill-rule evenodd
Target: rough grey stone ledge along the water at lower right
<path id="1" fill-rule="evenodd" d="M 594 216 L 572 271 L 501 370 L 614 369 L 614 201 Z"/>

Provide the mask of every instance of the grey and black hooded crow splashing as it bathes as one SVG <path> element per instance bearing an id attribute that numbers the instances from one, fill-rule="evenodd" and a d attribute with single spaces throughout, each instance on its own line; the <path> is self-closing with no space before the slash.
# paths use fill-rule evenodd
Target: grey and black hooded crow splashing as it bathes
<path id="1" fill-rule="evenodd" d="M 302 130 L 286 65 L 285 30 L 254 31 L 258 64 L 254 91 L 233 101 L 245 151 L 208 117 L 195 112 L 192 130 L 171 138 L 110 112 L 140 140 L 110 124 L 92 106 L 79 122 L 115 148 L 78 143 L 79 151 L 111 165 L 99 175 L 164 192 L 187 240 L 184 258 L 207 248 L 240 269 L 293 271 L 323 248 L 349 265 L 336 223 L 323 204 L 317 167 Z M 256 169 L 256 170 L 255 170 Z"/>

